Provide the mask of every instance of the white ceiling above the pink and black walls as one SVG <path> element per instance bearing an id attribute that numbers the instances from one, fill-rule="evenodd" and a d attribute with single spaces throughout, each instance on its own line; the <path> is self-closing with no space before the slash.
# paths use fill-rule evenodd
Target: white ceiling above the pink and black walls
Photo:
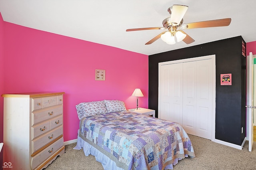
<path id="1" fill-rule="evenodd" d="M 232 18 L 226 27 L 184 30 L 195 42 L 168 45 L 146 42 L 163 30 L 126 32 L 128 28 L 162 27 L 174 4 L 186 5 L 184 24 Z M 206 42 L 242 36 L 256 41 L 256 0 L 0 0 L 6 22 L 89 42 L 152 55 Z"/>

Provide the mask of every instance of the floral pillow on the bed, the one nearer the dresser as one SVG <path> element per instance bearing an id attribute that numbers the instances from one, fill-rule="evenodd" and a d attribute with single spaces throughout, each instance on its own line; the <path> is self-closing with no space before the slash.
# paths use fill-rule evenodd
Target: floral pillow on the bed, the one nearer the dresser
<path id="1" fill-rule="evenodd" d="M 79 120 L 90 115 L 107 113 L 104 101 L 83 102 L 76 105 L 76 112 Z"/>

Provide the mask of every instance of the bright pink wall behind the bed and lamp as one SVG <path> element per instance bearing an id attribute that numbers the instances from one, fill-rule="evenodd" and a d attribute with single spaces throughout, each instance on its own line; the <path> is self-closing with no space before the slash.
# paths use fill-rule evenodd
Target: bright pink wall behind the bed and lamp
<path id="1" fill-rule="evenodd" d="M 64 141 L 77 138 L 75 105 L 118 99 L 148 108 L 148 56 L 5 22 L 4 93 L 63 91 Z M 95 69 L 106 70 L 106 81 L 95 80 Z"/>

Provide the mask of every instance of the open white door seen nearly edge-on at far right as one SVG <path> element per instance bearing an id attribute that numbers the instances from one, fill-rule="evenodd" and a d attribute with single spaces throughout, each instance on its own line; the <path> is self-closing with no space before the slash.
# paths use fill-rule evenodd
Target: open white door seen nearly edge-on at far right
<path id="1" fill-rule="evenodd" d="M 249 151 L 252 152 L 253 144 L 253 57 L 252 52 L 246 57 L 246 138 L 249 140 Z M 256 108 L 256 107 L 255 107 Z"/>

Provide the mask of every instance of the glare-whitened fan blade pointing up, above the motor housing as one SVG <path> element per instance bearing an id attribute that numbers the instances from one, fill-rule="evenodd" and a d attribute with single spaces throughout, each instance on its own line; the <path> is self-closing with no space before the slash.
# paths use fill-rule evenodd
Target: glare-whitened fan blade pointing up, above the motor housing
<path id="1" fill-rule="evenodd" d="M 169 11 L 169 9 L 168 9 L 168 11 Z M 182 20 L 183 16 L 185 15 L 186 11 L 188 10 L 188 6 L 173 5 L 170 10 L 171 10 L 170 21 L 172 22 L 173 26 L 178 26 L 180 24 L 180 21 Z"/>

